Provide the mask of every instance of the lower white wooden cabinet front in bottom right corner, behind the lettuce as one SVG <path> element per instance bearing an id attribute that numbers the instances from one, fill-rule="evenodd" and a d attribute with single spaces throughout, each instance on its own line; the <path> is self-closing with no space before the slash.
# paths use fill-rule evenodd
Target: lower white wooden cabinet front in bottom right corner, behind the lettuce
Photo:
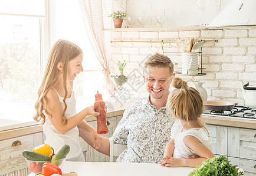
<path id="1" fill-rule="evenodd" d="M 256 161 L 247 160 L 243 158 L 228 157 L 228 160 L 232 165 L 237 165 L 239 168 L 245 171 L 245 176 L 256 175 Z"/>

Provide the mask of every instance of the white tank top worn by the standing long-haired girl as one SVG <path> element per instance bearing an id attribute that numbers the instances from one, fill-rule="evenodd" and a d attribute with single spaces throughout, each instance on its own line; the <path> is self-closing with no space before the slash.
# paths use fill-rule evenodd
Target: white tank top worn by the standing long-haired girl
<path id="1" fill-rule="evenodd" d="M 68 83 L 69 84 L 69 83 Z M 70 84 L 69 84 L 70 86 Z M 52 87 L 54 89 L 54 87 Z M 71 86 L 70 86 L 71 89 Z M 54 89 L 55 90 L 55 89 Z M 56 91 L 56 90 L 55 90 Z M 58 92 L 56 91 L 58 94 Z M 63 103 L 63 97 L 60 97 L 58 94 L 60 104 L 62 109 L 64 110 L 64 103 Z M 66 99 L 67 103 L 67 110 L 65 112 L 65 116 L 67 119 L 70 119 L 70 117 L 73 117 L 76 115 L 76 99 L 74 97 L 74 91 L 71 89 L 71 96 L 70 98 Z M 70 131 L 68 131 L 65 134 L 59 133 L 56 128 L 51 123 L 47 113 L 45 113 L 45 110 L 42 111 L 45 115 L 45 123 L 43 124 L 43 130 L 44 134 L 46 136 L 46 140 L 44 141 L 45 144 L 50 145 L 54 148 L 54 153 L 57 152 L 57 150 L 62 147 L 64 144 L 70 145 L 70 152 L 68 153 L 66 159 L 68 158 L 74 158 L 77 157 L 82 153 L 80 142 L 79 142 L 79 131 L 78 127 L 74 127 Z"/>

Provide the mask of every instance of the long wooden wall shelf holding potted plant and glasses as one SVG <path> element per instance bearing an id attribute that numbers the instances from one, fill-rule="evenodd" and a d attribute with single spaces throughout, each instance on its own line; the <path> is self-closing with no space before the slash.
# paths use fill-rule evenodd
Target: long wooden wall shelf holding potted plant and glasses
<path id="1" fill-rule="evenodd" d="M 206 26 L 180 26 L 180 27 L 164 27 L 164 28 L 107 28 L 103 31 L 116 31 L 116 32 L 157 32 L 157 31 L 198 31 L 205 30 Z"/>

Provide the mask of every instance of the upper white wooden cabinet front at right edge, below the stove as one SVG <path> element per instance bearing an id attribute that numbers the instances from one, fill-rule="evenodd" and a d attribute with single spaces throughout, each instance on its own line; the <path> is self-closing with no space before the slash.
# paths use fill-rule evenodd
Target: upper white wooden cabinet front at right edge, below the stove
<path id="1" fill-rule="evenodd" d="M 228 155 L 256 160 L 256 130 L 228 127 Z"/>

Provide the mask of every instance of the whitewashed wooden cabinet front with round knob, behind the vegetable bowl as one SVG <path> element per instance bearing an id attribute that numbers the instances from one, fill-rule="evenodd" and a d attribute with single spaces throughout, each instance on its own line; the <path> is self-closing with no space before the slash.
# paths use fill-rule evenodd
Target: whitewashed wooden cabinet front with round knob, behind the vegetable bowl
<path id="1" fill-rule="evenodd" d="M 42 132 L 0 141 L 0 175 L 27 168 L 22 151 L 32 150 L 41 144 Z"/>

